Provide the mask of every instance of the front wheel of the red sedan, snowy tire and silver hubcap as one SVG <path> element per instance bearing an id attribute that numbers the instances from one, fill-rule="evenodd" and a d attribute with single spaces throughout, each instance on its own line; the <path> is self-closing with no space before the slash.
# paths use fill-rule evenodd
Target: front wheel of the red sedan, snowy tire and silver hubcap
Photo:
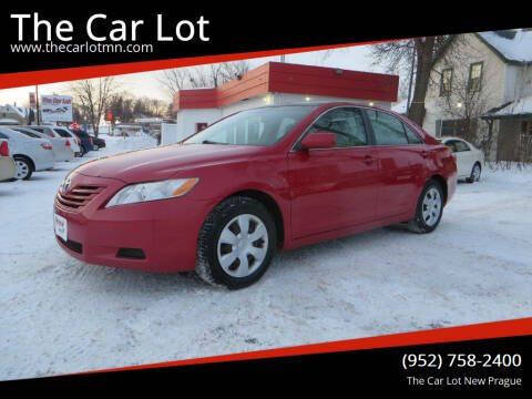
<path id="1" fill-rule="evenodd" d="M 239 226 L 246 221 L 248 233 L 243 236 Z M 276 237 L 274 219 L 262 203 L 245 196 L 225 200 L 211 212 L 200 232 L 196 274 L 212 285 L 247 287 L 266 273 Z"/>

